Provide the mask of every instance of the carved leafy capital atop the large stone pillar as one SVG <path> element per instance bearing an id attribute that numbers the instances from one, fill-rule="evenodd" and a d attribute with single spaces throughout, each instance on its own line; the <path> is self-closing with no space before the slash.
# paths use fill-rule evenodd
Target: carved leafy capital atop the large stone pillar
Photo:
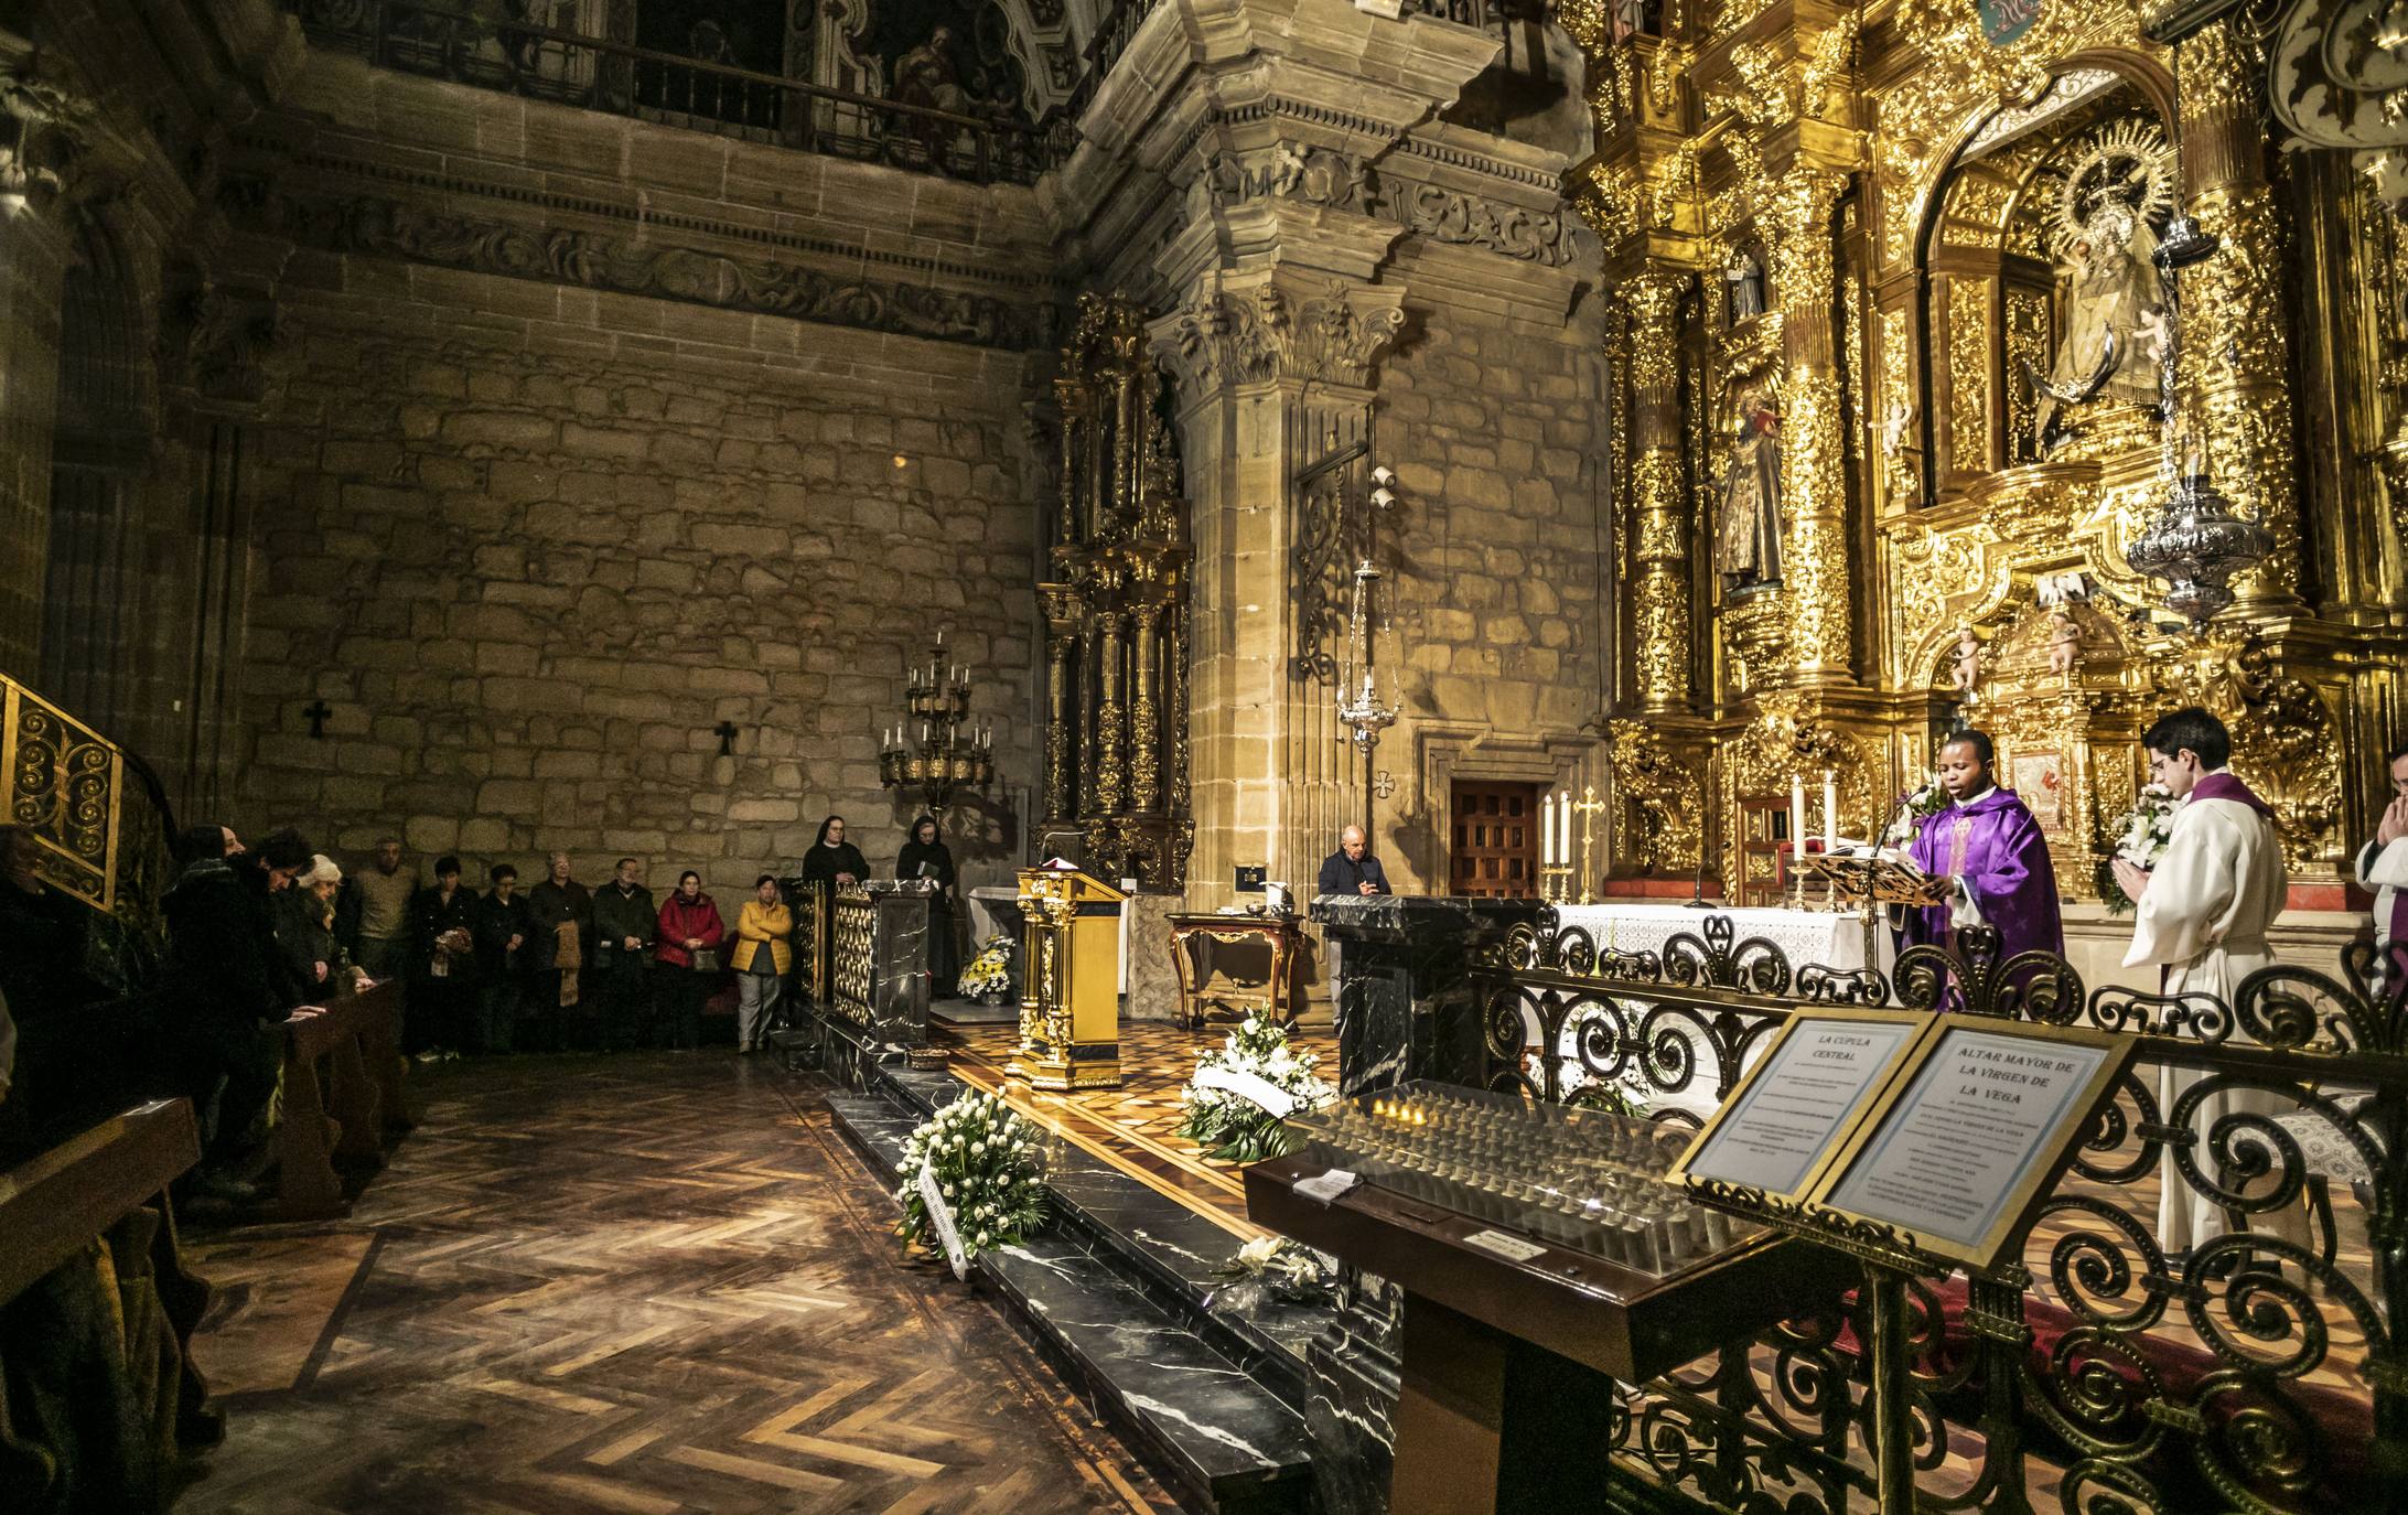
<path id="1" fill-rule="evenodd" d="M 1298 294 L 1269 282 L 1199 287 L 1149 330 L 1192 400 L 1271 378 L 1363 388 L 1401 325 L 1404 289 L 1329 279 Z"/>

